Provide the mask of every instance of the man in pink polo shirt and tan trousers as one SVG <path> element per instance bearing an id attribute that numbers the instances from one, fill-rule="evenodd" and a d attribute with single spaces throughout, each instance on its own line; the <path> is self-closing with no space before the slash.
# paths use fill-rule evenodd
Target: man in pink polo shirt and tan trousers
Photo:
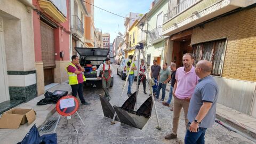
<path id="1" fill-rule="evenodd" d="M 172 133 L 165 136 L 165 139 L 177 138 L 177 130 L 179 125 L 179 117 L 181 108 L 183 108 L 185 115 L 185 124 L 188 125 L 188 106 L 192 97 L 196 84 L 198 83 L 198 76 L 195 73 L 195 67 L 193 66 L 194 57 L 191 53 L 186 53 L 182 57 L 183 67 L 180 67 L 176 71 L 176 82 L 173 87 L 173 121 L 172 121 Z"/>

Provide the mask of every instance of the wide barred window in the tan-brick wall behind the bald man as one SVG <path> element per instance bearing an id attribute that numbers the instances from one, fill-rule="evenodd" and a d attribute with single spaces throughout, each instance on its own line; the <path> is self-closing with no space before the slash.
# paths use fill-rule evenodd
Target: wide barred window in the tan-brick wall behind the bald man
<path id="1" fill-rule="evenodd" d="M 226 39 L 193 45 L 195 65 L 199 60 L 212 63 L 212 75 L 221 75 L 225 53 Z"/>

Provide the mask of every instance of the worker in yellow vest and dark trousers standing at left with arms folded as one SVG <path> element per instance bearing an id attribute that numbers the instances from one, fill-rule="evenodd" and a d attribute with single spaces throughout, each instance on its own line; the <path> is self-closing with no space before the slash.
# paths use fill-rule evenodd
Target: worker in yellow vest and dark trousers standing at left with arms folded
<path id="1" fill-rule="evenodd" d="M 90 105 L 89 102 L 86 102 L 83 95 L 83 84 L 86 81 L 83 74 L 84 68 L 81 67 L 79 63 L 79 58 L 77 55 L 71 57 L 71 62 L 69 62 L 66 67 L 68 73 L 69 85 L 72 88 L 72 95 L 76 97 L 77 93 L 79 99 L 81 100 L 82 105 Z"/>

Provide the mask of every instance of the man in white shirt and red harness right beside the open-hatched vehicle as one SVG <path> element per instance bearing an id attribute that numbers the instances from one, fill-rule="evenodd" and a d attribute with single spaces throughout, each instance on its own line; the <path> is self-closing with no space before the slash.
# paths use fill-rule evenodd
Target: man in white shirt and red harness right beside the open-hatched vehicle
<path id="1" fill-rule="evenodd" d="M 101 77 L 100 77 L 101 73 Z M 113 78 L 113 67 L 110 65 L 110 59 L 106 58 L 105 62 L 100 65 L 100 67 L 97 69 L 97 78 L 102 79 L 102 88 L 105 92 L 105 98 L 109 101 L 110 95 L 109 95 L 109 86 L 111 83 L 111 79 Z"/>

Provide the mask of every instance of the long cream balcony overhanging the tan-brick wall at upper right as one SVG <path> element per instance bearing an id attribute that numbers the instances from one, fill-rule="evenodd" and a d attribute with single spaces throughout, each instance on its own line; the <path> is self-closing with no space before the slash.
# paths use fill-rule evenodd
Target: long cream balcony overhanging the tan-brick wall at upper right
<path id="1" fill-rule="evenodd" d="M 237 0 L 183 0 L 164 14 L 163 35 L 169 36 L 218 17 L 254 1 Z"/>

